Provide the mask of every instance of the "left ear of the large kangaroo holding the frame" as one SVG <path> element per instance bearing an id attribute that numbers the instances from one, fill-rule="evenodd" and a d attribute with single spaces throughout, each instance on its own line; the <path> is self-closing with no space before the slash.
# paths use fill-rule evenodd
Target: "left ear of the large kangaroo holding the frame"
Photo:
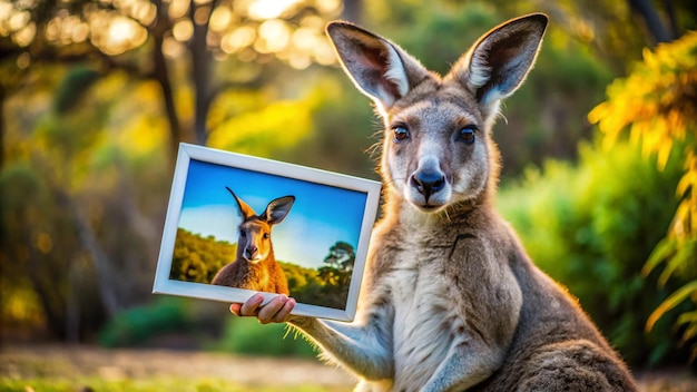
<path id="1" fill-rule="evenodd" d="M 331 22 L 326 33 L 346 74 L 383 114 L 429 76 L 400 47 L 354 24 Z"/>

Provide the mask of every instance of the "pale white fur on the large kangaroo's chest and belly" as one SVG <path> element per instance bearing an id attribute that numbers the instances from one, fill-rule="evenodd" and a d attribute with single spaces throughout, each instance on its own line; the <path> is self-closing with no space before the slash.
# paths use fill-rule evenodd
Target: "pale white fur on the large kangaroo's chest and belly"
<path id="1" fill-rule="evenodd" d="M 408 245 L 386 276 L 393 295 L 394 390 L 423 385 L 451 346 L 467 340 L 462 314 L 452 306 L 452 280 L 443 275 L 446 254 Z M 458 332 L 460 331 L 460 332 Z"/>

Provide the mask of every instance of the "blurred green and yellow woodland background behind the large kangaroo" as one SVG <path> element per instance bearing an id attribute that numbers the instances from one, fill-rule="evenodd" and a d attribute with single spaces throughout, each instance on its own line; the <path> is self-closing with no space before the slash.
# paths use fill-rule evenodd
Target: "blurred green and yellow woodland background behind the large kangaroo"
<path id="1" fill-rule="evenodd" d="M 150 294 L 178 144 L 377 179 L 381 124 L 325 23 L 444 74 L 533 11 L 551 26 L 494 129 L 499 208 L 632 369 L 695 369 L 693 0 L 0 0 L 2 346 L 313 357 L 282 325 Z"/>

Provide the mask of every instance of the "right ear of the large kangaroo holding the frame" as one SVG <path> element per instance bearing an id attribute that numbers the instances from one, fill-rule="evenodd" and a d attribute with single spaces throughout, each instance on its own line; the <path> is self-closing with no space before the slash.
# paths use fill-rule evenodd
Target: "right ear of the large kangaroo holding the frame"
<path id="1" fill-rule="evenodd" d="M 547 22 L 546 14 L 532 13 L 499 24 L 458 60 L 452 77 L 472 90 L 483 106 L 511 96 L 534 63 Z"/>

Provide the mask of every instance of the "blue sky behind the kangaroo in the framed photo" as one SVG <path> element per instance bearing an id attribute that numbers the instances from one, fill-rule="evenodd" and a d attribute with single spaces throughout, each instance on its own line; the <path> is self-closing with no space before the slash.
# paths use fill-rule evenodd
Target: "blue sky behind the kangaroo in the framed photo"
<path id="1" fill-rule="evenodd" d="M 257 215 L 271 200 L 295 196 L 286 218 L 272 231 L 276 259 L 317 268 L 337 241 L 354 249 L 359 244 L 366 194 L 196 159 L 189 163 L 178 227 L 236 243 L 242 217 L 226 186 Z"/>

